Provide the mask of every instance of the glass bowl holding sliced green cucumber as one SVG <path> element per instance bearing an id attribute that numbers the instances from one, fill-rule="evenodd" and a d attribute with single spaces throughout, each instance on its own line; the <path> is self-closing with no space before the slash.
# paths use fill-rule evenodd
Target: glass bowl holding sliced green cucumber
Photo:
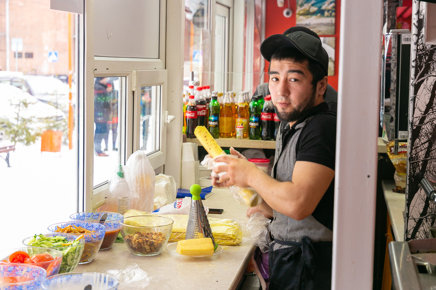
<path id="1" fill-rule="evenodd" d="M 68 242 L 72 242 L 77 238 L 76 235 L 72 235 L 69 233 L 48 233 L 44 234 L 45 237 L 56 237 L 61 236 L 65 237 L 65 239 L 68 240 Z M 77 267 L 80 258 L 82 257 L 83 250 L 85 249 L 85 239 L 78 240 L 78 244 L 74 246 L 62 246 L 59 245 L 57 247 L 50 247 L 47 244 L 44 245 L 37 245 L 37 243 L 34 243 L 34 241 L 41 241 L 41 239 L 38 239 L 38 236 L 32 236 L 27 237 L 23 240 L 23 244 L 27 247 L 31 248 L 41 248 L 42 249 L 55 249 L 62 253 L 62 263 L 61 268 L 59 270 L 59 274 L 61 273 L 70 273 L 74 271 L 74 269 Z"/>

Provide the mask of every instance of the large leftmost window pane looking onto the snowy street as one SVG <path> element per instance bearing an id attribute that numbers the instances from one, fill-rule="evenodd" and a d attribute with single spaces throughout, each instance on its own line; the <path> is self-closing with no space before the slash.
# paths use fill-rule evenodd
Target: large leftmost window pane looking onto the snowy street
<path id="1" fill-rule="evenodd" d="M 2 237 L 7 233 L 0 246 L 10 249 L 20 247 L 25 237 L 47 233 L 49 225 L 77 212 L 74 80 L 75 55 L 83 51 L 75 51 L 75 37 L 81 37 L 80 32 L 75 35 L 76 15 L 51 10 L 50 1 L 8 1 L 7 12 L 5 1 L 0 2 L 0 156 L 9 158 L 10 165 L 0 158 L 0 230 Z M 68 27 L 75 36 L 68 37 Z M 9 47 L 6 35 L 11 40 Z M 12 39 L 21 39 L 33 57 L 19 51 L 15 58 Z M 58 52 L 57 62 L 50 62 L 49 51 Z M 71 119 L 68 84 L 59 84 L 53 77 L 69 72 L 73 80 Z M 39 83 L 31 82 L 32 77 L 40 77 L 51 93 L 40 94 Z"/>

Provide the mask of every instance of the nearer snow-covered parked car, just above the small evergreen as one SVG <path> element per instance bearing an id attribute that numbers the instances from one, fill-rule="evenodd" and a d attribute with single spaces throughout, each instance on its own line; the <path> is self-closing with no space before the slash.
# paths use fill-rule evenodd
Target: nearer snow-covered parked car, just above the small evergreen
<path id="1" fill-rule="evenodd" d="M 17 87 L 0 83 L 0 118 L 14 122 L 19 110 L 16 105 L 23 101 L 29 105 L 20 110 L 19 114 L 22 118 L 34 118 L 35 122 L 41 122 L 44 119 L 57 121 L 65 119 L 65 113 L 62 110 L 41 102 L 30 93 L 23 92 Z"/>

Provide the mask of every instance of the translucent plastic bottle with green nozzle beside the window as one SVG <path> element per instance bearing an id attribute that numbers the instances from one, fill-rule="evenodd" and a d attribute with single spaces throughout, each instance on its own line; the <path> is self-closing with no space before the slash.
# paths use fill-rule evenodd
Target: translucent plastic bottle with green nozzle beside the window
<path id="1" fill-rule="evenodd" d="M 124 214 L 130 209 L 133 190 L 133 177 L 129 168 L 117 165 L 109 178 L 105 210 Z"/>

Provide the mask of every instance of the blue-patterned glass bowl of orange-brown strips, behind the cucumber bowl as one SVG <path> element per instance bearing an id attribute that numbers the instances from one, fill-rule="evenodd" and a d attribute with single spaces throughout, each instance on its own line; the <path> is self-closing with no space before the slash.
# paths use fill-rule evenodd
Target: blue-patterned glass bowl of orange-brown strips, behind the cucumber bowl
<path id="1" fill-rule="evenodd" d="M 86 230 L 93 230 L 94 233 L 72 233 L 75 236 L 83 235 L 85 237 L 85 248 L 83 249 L 82 257 L 80 258 L 80 264 L 91 263 L 95 255 L 99 251 L 103 238 L 105 237 L 106 227 L 100 223 L 89 222 L 67 222 L 67 223 L 55 223 L 49 226 L 47 229 L 51 233 L 58 233 L 56 229 L 65 228 L 68 226 L 82 227 Z"/>

